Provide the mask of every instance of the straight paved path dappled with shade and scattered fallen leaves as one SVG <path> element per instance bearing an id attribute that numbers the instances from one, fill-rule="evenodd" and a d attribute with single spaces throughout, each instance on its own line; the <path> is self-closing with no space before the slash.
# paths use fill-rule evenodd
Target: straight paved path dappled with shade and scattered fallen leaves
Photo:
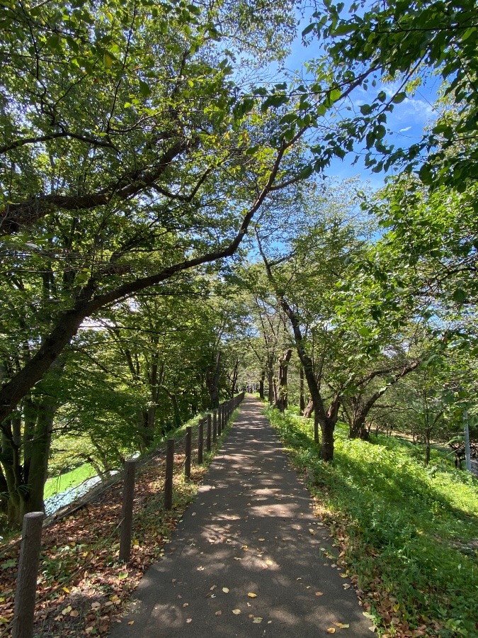
<path id="1" fill-rule="evenodd" d="M 332 551 L 261 403 L 246 398 L 164 558 L 110 636 L 317 638 L 334 627 L 368 638 L 370 620 L 327 559 Z"/>

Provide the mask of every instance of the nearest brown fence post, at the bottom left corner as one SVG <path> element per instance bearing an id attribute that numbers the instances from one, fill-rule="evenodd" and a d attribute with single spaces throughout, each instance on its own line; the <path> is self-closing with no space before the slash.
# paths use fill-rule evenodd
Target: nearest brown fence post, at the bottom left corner
<path id="1" fill-rule="evenodd" d="M 11 633 L 13 638 L 31 638 L 33 636 L 43 517 L 42 512 L 31 512 L 23 517 Z"/>

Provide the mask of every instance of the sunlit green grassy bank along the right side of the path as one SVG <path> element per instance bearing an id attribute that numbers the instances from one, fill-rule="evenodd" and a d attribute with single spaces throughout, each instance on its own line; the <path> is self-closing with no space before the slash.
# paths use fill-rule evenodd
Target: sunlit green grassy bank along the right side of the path
<path id="1" fill-rule="evenodd" d="M 348 440 L 336 429 L 334 461 L 319 459 L 312 422 L 266 408 L 292 461 L 357 575 L 383 636 L 477 637 L 478 480 L 432 452 L 379 435 Z"/>

